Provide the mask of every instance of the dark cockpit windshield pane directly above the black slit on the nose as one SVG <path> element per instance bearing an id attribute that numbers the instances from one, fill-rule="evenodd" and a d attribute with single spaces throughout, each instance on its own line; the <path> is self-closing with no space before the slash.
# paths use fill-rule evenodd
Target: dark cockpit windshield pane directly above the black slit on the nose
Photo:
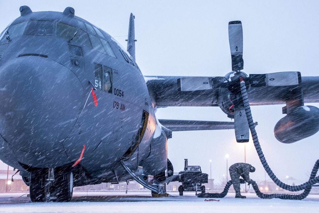
<path id="1" fill-rule="evenodd" d="M 53 35 L 53 20 L 30 20 L 26 35 Z"/>

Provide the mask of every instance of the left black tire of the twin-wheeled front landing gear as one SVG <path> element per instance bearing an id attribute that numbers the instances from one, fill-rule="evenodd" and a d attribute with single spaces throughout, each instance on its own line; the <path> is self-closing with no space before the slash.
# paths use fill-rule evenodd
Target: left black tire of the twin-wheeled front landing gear
<path id="1" fill-rule="evenodd" d="M 30 199 L 32 202 L 45 202 L 45 175 L 46 169 L 31 171 L 30 177 Z"/>

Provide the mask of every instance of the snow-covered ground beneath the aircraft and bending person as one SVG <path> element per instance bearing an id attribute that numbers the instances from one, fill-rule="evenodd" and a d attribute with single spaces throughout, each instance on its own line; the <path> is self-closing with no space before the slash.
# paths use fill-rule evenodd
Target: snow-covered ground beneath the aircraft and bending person
<path id="1" fill-rule="evenodd" d="M 173 197 L 153 198 L 150 193 L 75 192 L 68 203 L 31 203 L 23 193 L 0 194 L 0 212 L 318 212 L 319 195 L 301 201 L 260 199 L 254 193 L 235 199 L 228 193 L 220 201 L 204 201 L 195 193 L 170 193 Z M 21 196 L 23 195 L 23 196 Z M 20 197 L 21 196 L 21 197 Z M 218 200 L 218 199 L 217 199 Z"/>

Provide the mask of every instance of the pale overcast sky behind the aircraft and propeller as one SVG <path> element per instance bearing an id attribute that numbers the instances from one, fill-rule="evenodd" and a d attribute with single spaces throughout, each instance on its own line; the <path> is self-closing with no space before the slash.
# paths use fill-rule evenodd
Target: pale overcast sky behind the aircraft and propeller
<path id="1" fill-rule="evenodd" d="M 0 1 L 0 28 L 20 16 L 19 7 L 33 12 L 59 11 L 71 6 L 79 16 L 114 36 L 126 47 L 130 13 L 135 15 L 136 61 L 143 75 L 225 76 L 231 71 L 228 22 L 241 20 L 243 59 L 247 74 L 300 71 L 318 75 L 319 1 Z M 319 107 L 319 104 L 308 104 Z M 303 183 L 318 154 L 318 134 L 282 144 L 273 128 L 284 117 L 282 107 L 253 106 L 256 131 L 269 166 L 288 184 Z M 231 121 L 218 107 L 170 107 L 157 111 L 159 119 Z M 218 184 L 228 167 L 244 162 L 244 144 L 234 130 L 173 132 L 168 157 L 174 171 L 200 165 Z M 265 179 L 252 141 L 246 143 L 246 162 L 256 167 L 251 178 Z M 1 169 L 6 168 L 2 163 Z M 228 177 L 229 178 L 229 177 Z M 268 175 L 266 179 L 270 179 Z"/>

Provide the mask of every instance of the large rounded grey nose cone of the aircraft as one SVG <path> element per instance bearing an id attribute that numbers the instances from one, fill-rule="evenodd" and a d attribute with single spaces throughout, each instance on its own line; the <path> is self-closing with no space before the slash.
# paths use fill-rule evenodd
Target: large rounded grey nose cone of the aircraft
<path id="1" fill-rule="evenodd" d="M 82 85 L 66 67 L 39 56 L 0 67 L 0 133 L 14 148 L 39 153 L 56 148 L 80 113 Z"/>

